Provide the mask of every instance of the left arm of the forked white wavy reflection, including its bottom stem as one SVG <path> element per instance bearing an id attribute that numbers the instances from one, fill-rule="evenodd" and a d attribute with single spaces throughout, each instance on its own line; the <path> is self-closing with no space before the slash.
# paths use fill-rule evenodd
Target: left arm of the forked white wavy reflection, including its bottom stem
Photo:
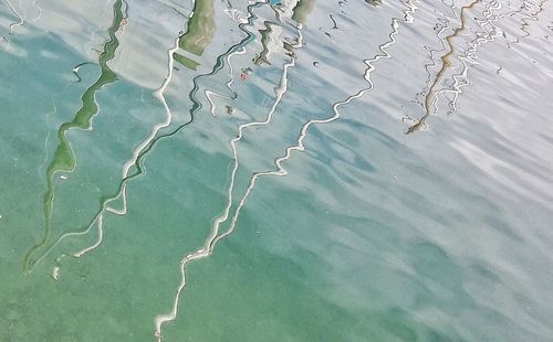
<path id="1" fill-rule="evenodd" d="M 302 35 L 301 29 L 302 29 L 302 26 L 301 26 L 301 24 L 299 24 L 299 26 L 296 28 L 296 31 L 299 34 L 298 43 L 292 45 L 292 47 L 294 47 L 294 49 L 299 49 L 299 47 L 303 46 L 302 45 L 303 44 L 303 35 Z M 275 88 L 275 99 L 274 99 L 271 108 L 268 111 L 267 118 L 263 121 L 251 121 L 251 122 L 240 125 L 238 127 L 237 137 L 234 137 L 233 139 L 230 140 L 230 147 L 232 149 L 234 164 L 232 168 L 230 184 L 229 184 L 229 189 L 227 192 L 226 207 L 225 207 L 222 214 L 219 215 L 217 218 L 215 218 L 213 224 L 211 226 L 211 231 L 210 231 L 208 237 L 206 238 L 202 248 L 198 249 L 195 253 L 188 254 L 187 256 L 185 256 L 180 260 L 181 281 L 180 281 L 179 287 L 177 288 L 177 292 L 176 292 L 174 303 L 173 303 L 173 309 L 169 313 L 160 314 L 160 316 L 156 317 L 156 319 L 155 319 L 155 327 L 156 327 L 155 335 L 156 335 L 158 342 L 161 341 L 163 325 L 165 323 L 174 321 L 177 318 L 178 304 L 180 301 L 181 293 L 186 287 L 186 267 L 195 260 L 204 259 L 204 258 L 208 257 L 209 255 L 211 255 L 211 253 L 215 248 L 215 245 L 220 239 L 220 238 L 218 238 L 218 234 L 219 234 L 219 229 L 221 227 L 221 224 L 227 222 L 227 220 L 229 218 L 230 210 L 232 207 L 232 202 L 233 202 L 236 177 L 237 177 L 238 169 L 240 167 L 237 146 L 242 140 L 243 132 L 246 129 L 249 129 L 252 127 L 258 127 L 258 126 L 267 126 L 272 121 L 274 111 L 276 110 L 276 107 L 279 106 L 284 94 L 288 90 L 288 72 L 289 72 L 290 67 L 295 66 L 295 58 L 296 58 L 295 55 L 292 55 L 291 61 L 283 65 L 283 71 L 282 71 L 281 79 L 279 83 L 279 87 Z"/>

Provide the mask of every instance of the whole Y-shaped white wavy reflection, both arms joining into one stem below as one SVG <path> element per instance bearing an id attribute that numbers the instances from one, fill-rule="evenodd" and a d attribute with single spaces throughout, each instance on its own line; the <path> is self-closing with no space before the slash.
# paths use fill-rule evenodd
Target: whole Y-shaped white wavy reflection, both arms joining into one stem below
<path id="1" fill-rule="evenodd" d="M 219 217 L 217 217 L 217 220 L 215 221 L 215 223 L 212 225 L 212 228 L 211 228 L 211 232 L 210 232 L 208 238 L 206 239 L 202 248 L 198 249 L 195 253 L 191 253 L 191 254 L 187 255 L 186 257 L 184 257 L 181 259 L 181 261 L 180 261 L 181 282 L 180 282 L 180 285 L 179 285 L 179 287 L 177 289 L 177 293 L 176 293 L 176 297 L 175 297 L 173 310 L 168 314 L 158 316 L 156 318 L 156 333 L 155 334 L 156 334 L 156 336 L 158 339 L 158 342 L 161 341 L 161 328 L 163 328 L 163 324 L 166 323 L 166 322 L 175 320 L 176 317 L 177 317 L 177 313 L 178 313 L 178 303 L 179 303 L 182 290 L 186 287 L 186 268 L 187 268 L 187 266 L 189 264 L 191 264 L 192 261 L 195 261 L 195 260 L 204 259 L 204 258 L 208 257 L 213 252 L 213 248 L 217 245 L 217 243 L 219 243 L 221 239 L 223 239 L 225 237 L 227 237 L 230 234 L 232 234 L 232 232 L 236 228 L 236 224 L 238 222 L 238 218 L 240 216 L 240 212 L 241 212 L 242 207 L 244 206 L 248 196 L 250 195 L 250 193 L 254 189 L 258 179 L 261 178 L 261 177 L 269 177 L 269 175 L 285 177 L 288 174 L 288 171 L 282 167 L 282 163 L 284 161 L 286 161 L 288 159 L 290 159 L 292 151 L 294 151 L 294 150 L 304 151 L 304 149 L 305 149 L 305 147 L 304 147 L 304 140 L 305 140 L 305 137 L 307 135 L 309 128 L 312 125 L 324 125 L 324 124 L 330 124 L 330 122 L 332 122 L 334 120 L 337 120 L 341 117 L 341 114 L 338 111 L 338 108 L 341 106 L 349 104 L 352 100 L 354 100 L 356 98 L 359 98 L 365 93 L 367 93 L 367 92 L 369 92 L 369 90 L 373 89 L 374 85 L 373 85 L 373 82 L 371 79 L 371 73 L 375 70 L 373 63 L 375 63 L 375 62 L 377 62 L 378 60 L 382 60 L 382 58 L 390 58 L 390 55 L 388 54 L 388 52 L 386 51 L 386 49 L 389 47 L 390 45 L 393 45 L 396 42 L 396 38 L 395 36 L 399 32 L 398 31 L 399 23 L 400 22 L 413 23 L 413 21 L 414 21 L 413 14 L 415 13 L 415 11 L 418 8 L 410 0 L 407 1 L 406 6 L 407 6 L 407 9 L 405 9 L 403 11 L 404 14 L 405 14 L 404 19 L 401 20 L 401 19 L 394 18 L 393 21 L 392 21 L 392 29 L 393 29 L 393 31 L 389 34 L 389 41 L 387 41 L 387 42 L 385 42 L 385 43 L 383 43 L 383 44 L 380 44 L 378 46 L 378 49 L 382 52 L 382 54 L 377 54 L 375 57 L 364 61 L 364 63 L 367 65 L 367 70 L 365 72 L 365 74 L 364 74 L 364 78 L 369 84 L 369 86 L 367 88 L 364 88 L 364 89 L 359 90 L 357 94 L 347 97 L 343 101 L 335 103 L 333 105 L 333 113 L 334 113 L 333 116 L 331 116 L 331 117 L 328 117 L 326 119 L 312 119 L 312 120 L 309 120 L 305 125 L 303 125 L 302 128 L 301 128 L 301 130 L 300 130 L 300 136 L 299 136 L 299 138 L 296 140 L 296 145 L 288 147 L 285 149 L 285 154 L 283 157 L 280 157 L 280 158 L 275 159 L 274 164 L 276 167 L 276 170 L 274 170 L 274 171 L 267 171 L 267 172 L 257 172 L 257 173 L 254 173 L 251 177 L 251 179 L 249 181 L 249 184 L 248 184 L 248 188 L 246 190 L 246 193 L 240 199 L 240 201 L 238 203 L 238 206 L 234 210 L 234 213 L 232 215 L 229 228 L 226 232 L 223 232 L 222 234 L 219 234 L 220 226 L 221 226 L 221 224 L 223 222 L 226 222 L 228 220 L 228 217 L 230 215 L 230 209 L 231 209 L 231 205 L 232 205 L 232 192 L 233 192 L 233 188 L 234 188 L 234 178 L 236 178 L 236 172 L 237 172 L 238 165 L 239 165 L 239 162 L 238 162 L 238 151 L 237 151 L 236 145 L 242 138 L 242 131 L 243 131 L 243 129 L 246 129 L 248 127 L 252 127 L 252 126 L 267 125 L 267 124 L 269 124 L 271 121 L 272 113 L 274 111 L 278 103 L 280 101 L 279 96 L 278 96 L 278 100 L 273 104 L 273 107 L 271 107 L 271 110 L 269 111 L 269 116 L 268 116 L 268 118 L 264 121 L 261 121 L 261 122 L 249 122 L 249 124 L 241 125 L 239 127 L 239 135 L 238 135 L 238 137 L 236 137 L 234 139 L 231 140 L 231 147 L 232 147 L 233 158 L 234 158 L 234 168 L 232 170 L 232 178 L 231 178 L 231 182 L 230 182 L 230 186 L 229 186 L 229 191 L 228 191 L 227 206 L 225 209 L 225 212 Z M 298 32 L 299 32 L 299 36 L 300 36 L 300 39 L 299 39 L 299 43 L 300 44 L 301 44 L 302 39 L 303 39 L 302 32 L 301 32 L 301 28 L 302 28 L 302 25 L 299 24 Z M 290 66 L 293 65 L 294 60 L 295 60 L 295 57 L 293 57 L 293 60 L 288 64 L 288 67 L 290 67 Z M 286 66 L 284 68 L 284 72 L 285 72 L 285 70 L 286 70 Z M 283 84 L 283 82 L 285 79 L 286 79 L 285 75 L 283 74 L 283 78 L 281 79 L 281 88 L 283 88 L 283 86 L 285 85 L 285 84 Z M 281 90 L 281 93 L 283 94 L 283 90 Z"/>

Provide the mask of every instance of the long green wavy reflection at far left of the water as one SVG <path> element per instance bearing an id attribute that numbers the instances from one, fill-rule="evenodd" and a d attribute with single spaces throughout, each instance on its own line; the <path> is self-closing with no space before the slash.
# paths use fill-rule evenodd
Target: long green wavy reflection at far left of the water
<path id="1" fill-rule="evenodd" d="M 44 232 L 42 239 L 34 245 L 25 255 L 23 261 L 23 269 L 29 271 L 34 265 L 35 260 L 32 259 L 32 255 L 39 248 L 48 244 L 51 234 L 51 217 L 53 211 L 54 202 L 54 175 L 56 172 L 65 171 L 72 172 L 76 167 L 75 156 L 71 148 L 71 145 L 65 136 L 71 129 L 90 129 L 92 127 L 92 119 L 98 113 L 98 105 L 96 104 L 96 92 L 98 92 L 104 86 L 117 81 L 117 75 L 109 68 L 107 62 L 113 60 L 115 56 L 115 51 L 119 46 L 119 41 L 117 40 L 116 32 L 121 29 L 124 15 L 123 15 L 123 0 L 116 0 L 113 6 L 114 18 L 112 25 L 107 29 L 109 40 L 105 43 L 104 50 L 102 51 L 98 64 L 101 67 L 101 74 L 97 81 L 86 89 L 86 92 L 81 97 L 82 107 L 75 114 L 73 120 L 63 124 L 58 130 L 59 145 L 55 149 L 54 156 L 52 157 L 51 163 L 46 168 L 46 192 L 43 197 L 44 203 Z"/>

